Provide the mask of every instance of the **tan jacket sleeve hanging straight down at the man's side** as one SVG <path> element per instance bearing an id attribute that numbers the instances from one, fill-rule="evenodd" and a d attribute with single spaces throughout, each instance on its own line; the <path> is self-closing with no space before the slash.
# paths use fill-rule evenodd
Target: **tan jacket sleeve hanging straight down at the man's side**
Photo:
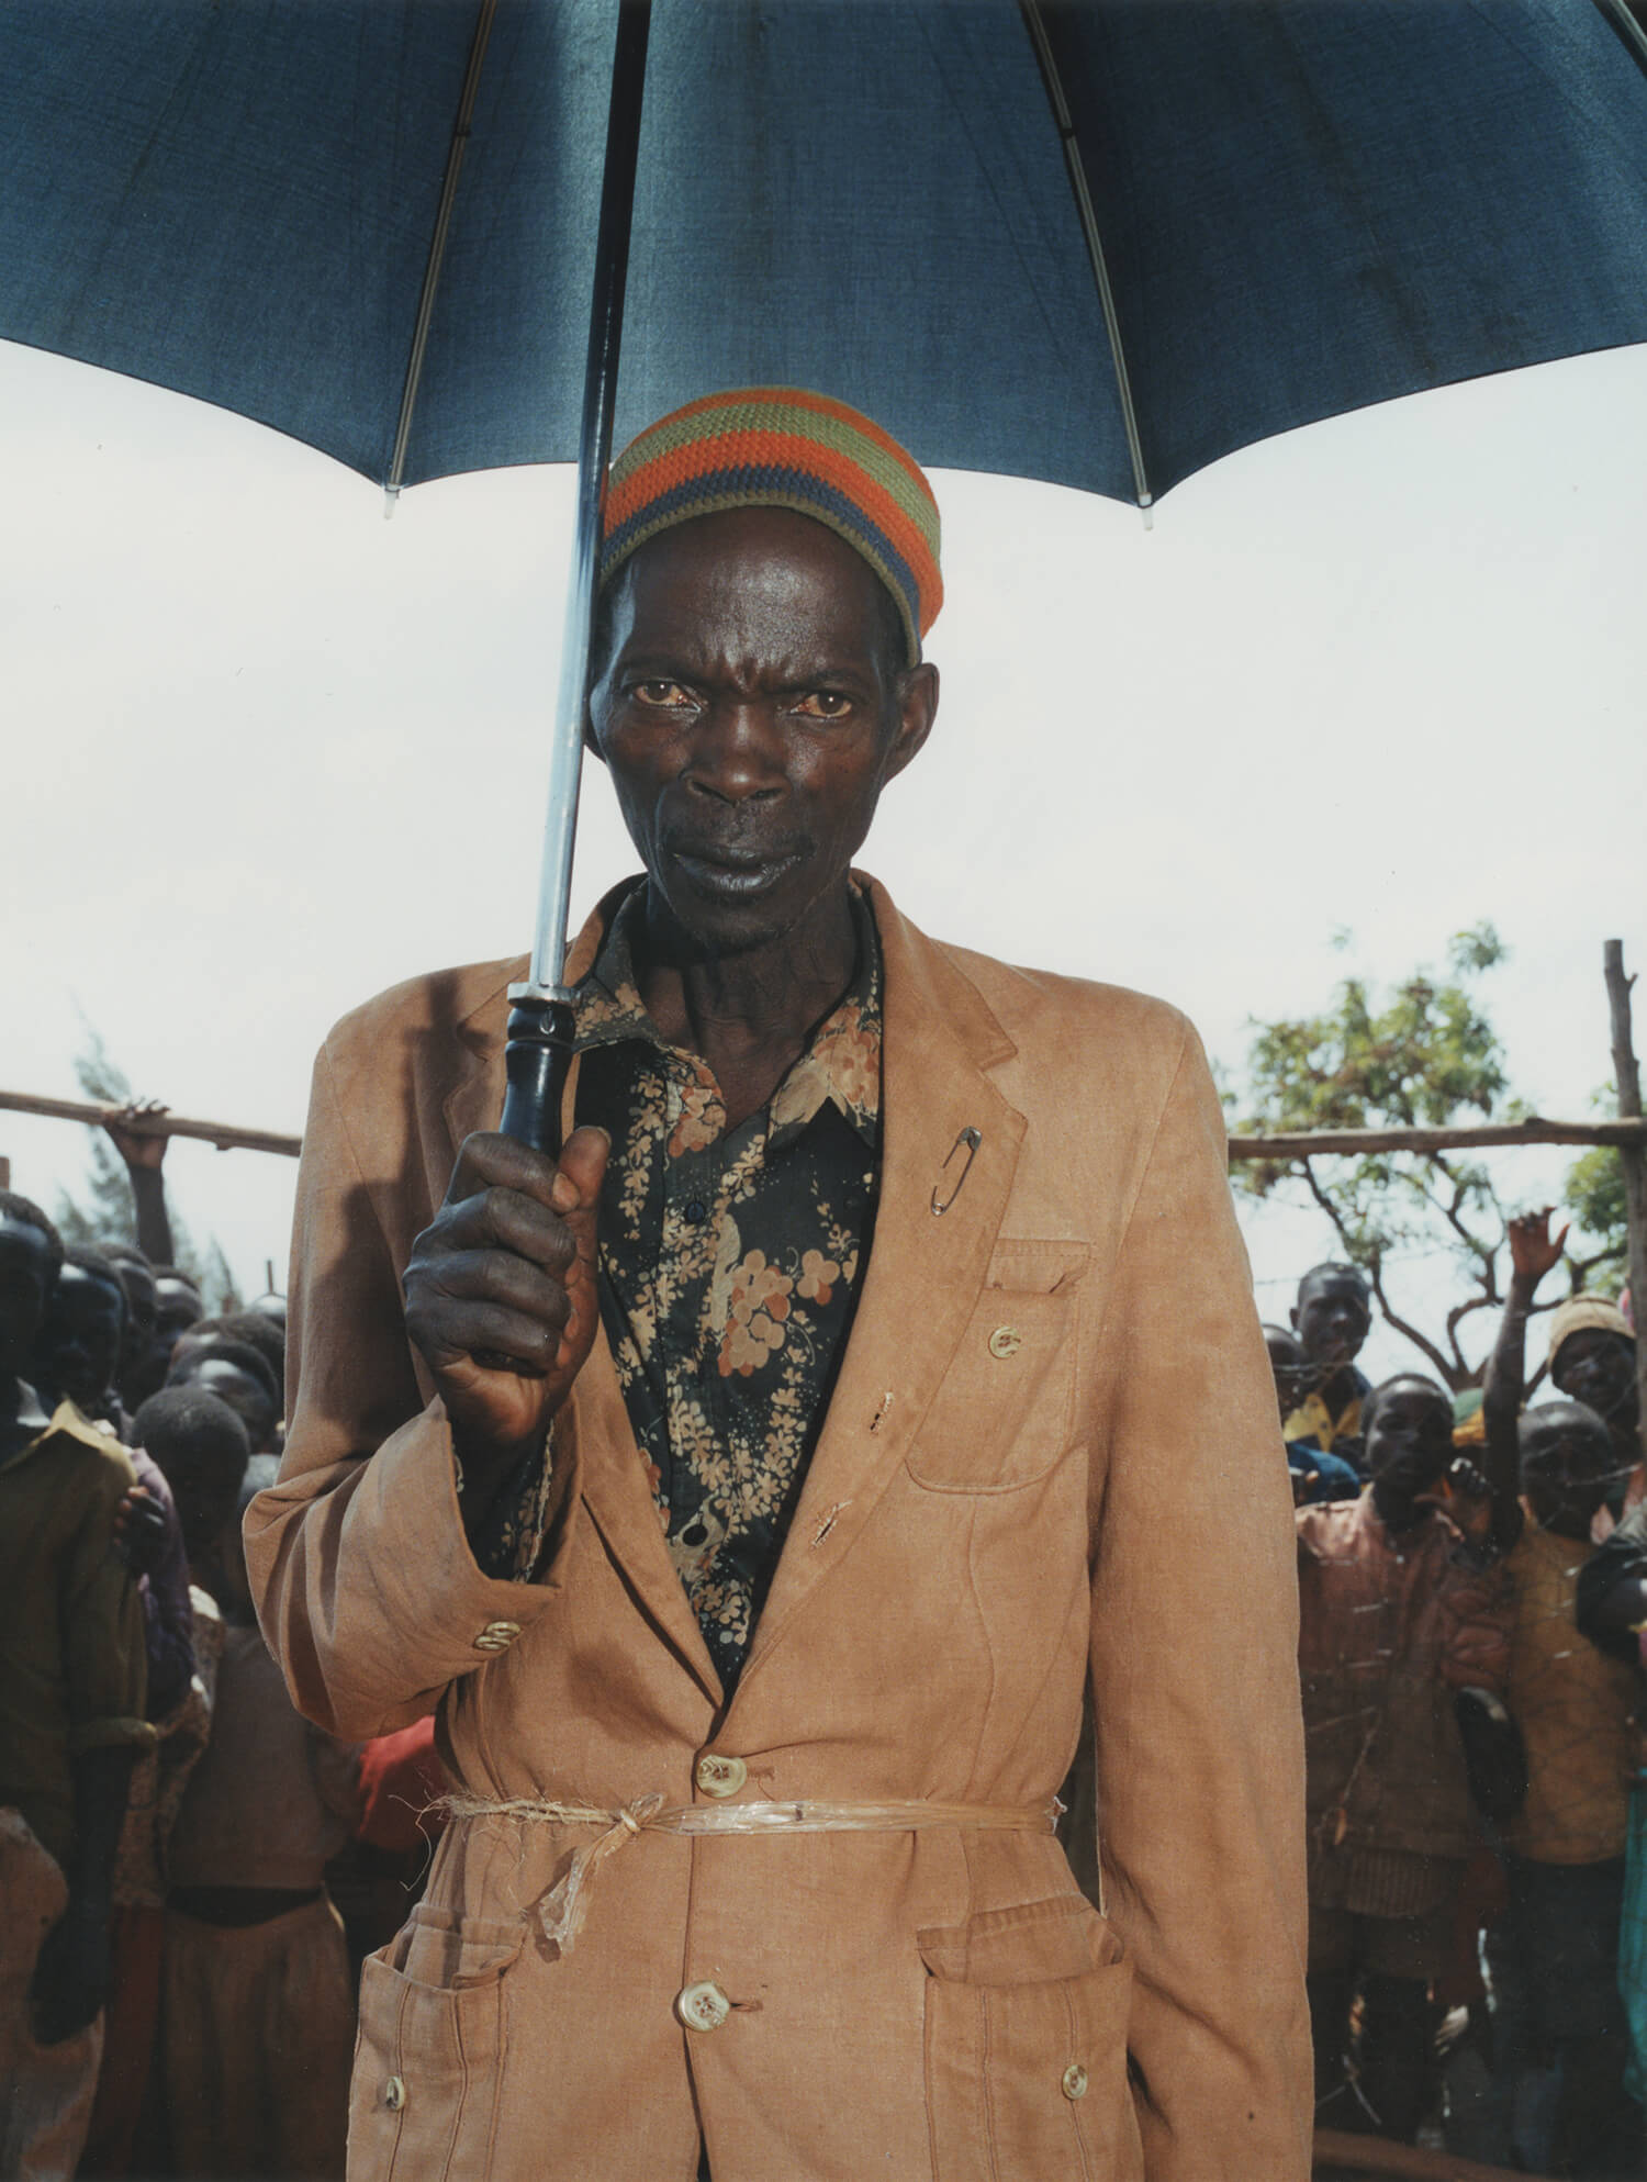
<path id="1" fill-rule="evenodd" d="M 1305 2182 L 1298 1543 L 1224 1117 L 1189 1026 L 1106 1305 L 1097 1407 L 1097 1822 L 1134 1970 L 1145 2171 Z"/>

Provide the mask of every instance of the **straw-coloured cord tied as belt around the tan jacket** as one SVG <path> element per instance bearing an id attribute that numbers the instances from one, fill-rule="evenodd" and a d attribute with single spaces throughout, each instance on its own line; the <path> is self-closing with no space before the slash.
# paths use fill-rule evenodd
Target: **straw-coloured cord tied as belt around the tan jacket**
<path id="1" fill-rule="evenodd" d="M 596 1872 L 620 1848 L 644 1833 L 931 1833 L 958 1826 L 971 1833 L 1054 1833 L 1058 1798 L 1030 1805 L 1006 1802 L 687 1802 L 665 1805 L 663 1796 L 635 1796 L 617 1811 L 537 1796 L 486 1798 L 454 1789 L 436 1805 L 454 1820 L 513 1818 L 534 1826 L 600 1826 L 598 1839 L 578 1848 L 565 1874 L 539 1901 L 537 1916 L 563 1955 L 582 1931 Z"/>

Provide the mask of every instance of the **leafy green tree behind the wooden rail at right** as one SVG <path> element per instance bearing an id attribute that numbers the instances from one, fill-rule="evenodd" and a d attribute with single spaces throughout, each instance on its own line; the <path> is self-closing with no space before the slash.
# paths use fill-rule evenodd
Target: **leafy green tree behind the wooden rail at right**
<path id="1" fill-rule="evenodd" d="M 1510 1074 L 1479 986 L 1505 960 L 1492 925 L 1457 932 L 1446 971 L 1416 969 L 1385 995 L 1346 978 L 1322 1015 L 1252 1023 L 1246 1069 L 1246 1135 L 1326 1128 L 1446 1128 L 1468 1119 L 1516 1122 L 1527 1115 L 1510 1095 Z M 1582 1174 L 1590 1161 L 1579 1161 Z M 1616 1161 L 1612 1161 L 1616 1170 Z M 1623 1235 L 1608 1211 L 1606 1176 L 1568 1189 L 1573 1239 L 1571 1290 L 1614 1261 Z M 1235 1187 L 1254 1198 L 1285 1196 L 1318 1207 L 1344 1255 L 1372 1287 L 1385 1322 L 1418 1348 L 1455 1392 L 1481 1383 L 1483 1357 L 1470 1359 L 1459 1335 L 1503 1307 L 1499 1250 L 1505 1207 L 1479 1159 L 1457 1152 L 1368 1152 L 1287 1161 L 1241 1161 Z M 1621 1185 L 1619 1185 L 1621 1200 Z M 1584 1239 L 1590 1237 L 1586 1244 Z M 1459 1300 L 1438 1333 L 1420 1327 L 1398 1298 L 1398 1261 L 1444 1250 L 1462 1274 Z M 1540 1303 L 1551 1309 L 1558 1296 Z M 1492 1320 L 1490 1320 L 1492 1322 Z"/>

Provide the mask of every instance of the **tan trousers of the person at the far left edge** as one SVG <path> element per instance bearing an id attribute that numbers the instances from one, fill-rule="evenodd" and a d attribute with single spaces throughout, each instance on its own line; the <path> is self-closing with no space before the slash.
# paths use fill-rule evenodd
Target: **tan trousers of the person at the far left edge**
<path id="1" fill-rule="evenodd" d="M 103 2016 L 55 2047 L 28 2029 L 39 1942 L 68 1907 L 68 1883 L 22 1811 L 0 1809 L 0 2175 L 70 2182 L 92 2121 Z"/>

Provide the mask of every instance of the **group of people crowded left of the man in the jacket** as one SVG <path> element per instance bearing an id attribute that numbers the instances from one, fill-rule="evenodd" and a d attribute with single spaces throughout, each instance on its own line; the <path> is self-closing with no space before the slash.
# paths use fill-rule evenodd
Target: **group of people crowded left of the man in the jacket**
<path id="1" fill-rule="evenodd" d="M 342 2175 L 358 1966 L 417 1896 L 441 1776 L 430 1722 L 364 1750 L 308 1726 L 257 1630 L 240 1519 L 284 1342 L 277 1296 L 209 1318 L 185 1274 L 0 1191 L 17 2182 Z"/>

